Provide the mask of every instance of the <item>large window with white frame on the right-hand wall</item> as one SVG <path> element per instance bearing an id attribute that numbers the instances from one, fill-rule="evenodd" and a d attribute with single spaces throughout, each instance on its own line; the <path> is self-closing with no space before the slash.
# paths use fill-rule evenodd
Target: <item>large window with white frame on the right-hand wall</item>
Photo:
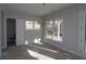
<path id="1" fill-rule="evenodd" d="M 62 20 L 46 23 L 46 38 L 62 41 Z"/>

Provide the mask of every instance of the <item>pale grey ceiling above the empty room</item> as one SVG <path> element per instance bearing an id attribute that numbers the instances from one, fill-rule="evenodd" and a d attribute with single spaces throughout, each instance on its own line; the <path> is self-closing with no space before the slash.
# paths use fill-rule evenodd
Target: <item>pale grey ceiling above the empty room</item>
<path id="1" fill-rule="evenodd" d="M 2 5 L 8 12 L 42 16 L 73 4 L 72 3 L 46 3 L 44 5 L 44 3 L 4 3 Z"/>

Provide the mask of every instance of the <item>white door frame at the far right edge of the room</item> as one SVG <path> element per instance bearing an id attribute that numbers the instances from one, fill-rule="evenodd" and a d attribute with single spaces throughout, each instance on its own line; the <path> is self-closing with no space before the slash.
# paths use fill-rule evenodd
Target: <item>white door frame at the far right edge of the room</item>
<path id="1" fill-rule="evenodd" d="M 86 52 L 86 41 L 85 41 L 85 16 L 86 10 L 79 12 L 79 33 L 78 33 L 78 51 Z"/>

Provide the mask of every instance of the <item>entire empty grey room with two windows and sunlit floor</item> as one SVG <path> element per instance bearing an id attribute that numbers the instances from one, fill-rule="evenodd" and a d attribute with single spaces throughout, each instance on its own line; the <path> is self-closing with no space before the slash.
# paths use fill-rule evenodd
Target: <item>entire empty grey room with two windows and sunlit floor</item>
<path id="1" fill-rule="evenodd" d="M 85 60 L 86 3 L 0 3 L 0 60 Z"/>

